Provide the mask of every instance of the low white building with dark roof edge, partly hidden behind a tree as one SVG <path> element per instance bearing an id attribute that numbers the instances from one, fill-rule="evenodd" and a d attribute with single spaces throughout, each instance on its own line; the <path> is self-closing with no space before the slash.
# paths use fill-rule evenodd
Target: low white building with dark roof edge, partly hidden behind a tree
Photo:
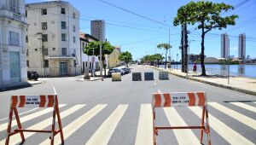
<path id="1" fill-rule="evenodd" d="M 90 42 L 93 42 L 93 41 L 96 42 L 99 40 L 84 32 L 79 33 L 79 39 L 80 39 L 80 54 L 79 54 L 80 62 L 79 63 L 82 64 L 81 72 L 84 73 L 84 70 L 86 67 L 89 67 L 90 70 L 92 69 L 98 70 L 100 68 L 98 56 L 88 56 L 84 54 L 84 47 L 86 47 L 87 44 L 89 44 Z"/>

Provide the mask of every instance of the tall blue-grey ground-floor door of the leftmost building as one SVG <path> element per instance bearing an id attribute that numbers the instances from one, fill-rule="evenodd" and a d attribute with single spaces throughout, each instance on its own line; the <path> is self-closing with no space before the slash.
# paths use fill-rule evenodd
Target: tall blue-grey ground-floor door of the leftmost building
<path id="1" fill-rule="evenodd" d="M 20 52 L 9 51 L 10 82 L 20 82 Z"/>

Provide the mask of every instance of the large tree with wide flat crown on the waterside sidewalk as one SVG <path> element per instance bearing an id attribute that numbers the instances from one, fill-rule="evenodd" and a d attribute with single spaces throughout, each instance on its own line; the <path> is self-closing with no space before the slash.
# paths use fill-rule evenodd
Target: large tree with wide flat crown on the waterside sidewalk
<path id="1" fill-rule="evenodd" d="M 177 17 L 173 20 L 173 25 L 198 24 L 196 29 L 201 29 L 201 75 L 206 76 L 204 64 L 205 36 L 212 29 L 226 28 L 227 26 L 236 25 L 238 15 L 232 14 L 224 16 L 223 12 L 234 9 L 231 5 L 225 3 L 212 3 L 209 1 L 190 2 L 177 9 Z"/>

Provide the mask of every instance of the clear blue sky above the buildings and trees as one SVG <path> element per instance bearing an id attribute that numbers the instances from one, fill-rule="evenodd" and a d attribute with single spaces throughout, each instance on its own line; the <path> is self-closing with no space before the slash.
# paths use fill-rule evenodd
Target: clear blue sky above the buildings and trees
<path id="1" fill-rule="evenodd" d="M 154 53 L 165 54 L 162 49 L 156 49 L 157 44 L 168 43 L 168 26 L 170 26 L 172 45 L 171 56 L 176 60 L 180 56 L 178 46 L 180 44 L 180 26 L 173 26 L 172 20 L 177 14 L 177 9 L 188 0 L 105 0 L 123 9 L 130 10 L 136 14 L 143 15 L 151 20 L 164 23 L 156 23 L 143 19 L 135 14 L 114 8 L 99 0 L 67 0 L 80 11 L 80 31 L 90 33 L 90 20 L 106 20 L 106 38 L 111 44 L 120 46 L 122 51 L 128 50 L 133 59 L 141 58 L 143 55 Z M 44 2 L 44 0 L 26 0 L 26 3 Z M 230 35 L 230 55 L 238 55 L 238 36 L 246 33 L 247 55 L 256 58 L 256 1 L 255 0 L 212 0 L 215 3 L 228 3 L 238 6 L 236 9 L 226 13 L 238 14 L 236 26 L 228 26 L 222 31 L 213 30 L 207 34 L 205 43 L 205 54 L 207 56 L 220 57 L 220 34 L 227 32 Z M 241 4 L 242 2 L 245 2 Z M 190 31 L 190 53 L 201 52 L 201 31 L 194 30 L 195 26 L 188 26 Z M 179 58 L 178 58 L 179 59 Z"/>

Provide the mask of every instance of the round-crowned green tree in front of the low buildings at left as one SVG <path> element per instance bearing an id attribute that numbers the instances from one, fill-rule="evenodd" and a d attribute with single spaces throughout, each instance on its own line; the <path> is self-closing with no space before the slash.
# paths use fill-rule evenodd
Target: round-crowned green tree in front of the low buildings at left
<path id="1" fill-rule="evenodd" d="M 94 55 L 100 57 L 100 42 L 90 42 L 84 48 L 84 54 L 86 55 L 93 55 L 94 48 Z M 109 42 L 102 42 L 102 62 L 104 67 L 104 73 L 106 76 L 106 64 L 105 64 L 105 55 L 110 55 L 113 52 L 114 47 Z"/>

